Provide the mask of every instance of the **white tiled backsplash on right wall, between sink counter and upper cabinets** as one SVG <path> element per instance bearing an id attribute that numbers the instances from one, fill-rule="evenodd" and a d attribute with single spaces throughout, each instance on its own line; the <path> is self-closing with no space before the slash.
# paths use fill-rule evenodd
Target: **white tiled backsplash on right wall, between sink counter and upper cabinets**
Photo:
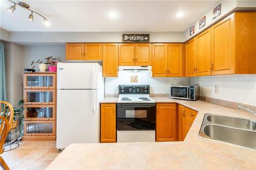
<path id="1" fill-rule="evenodd" d="M 232 75 L 190 78 L 200 85 L 200 95 L 256 106 L 256 75 Z M 219 93 L 215 93 L 215 85 Z"/>

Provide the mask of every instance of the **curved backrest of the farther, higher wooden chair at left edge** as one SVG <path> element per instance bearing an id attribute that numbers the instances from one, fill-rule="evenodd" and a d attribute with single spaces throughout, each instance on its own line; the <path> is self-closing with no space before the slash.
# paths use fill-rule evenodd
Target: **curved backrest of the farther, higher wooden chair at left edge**
<path id="1" fill-rule="evenodd" d="M 12 105 L 8 102 L 0 101 L 0 116 L 7 118 L 9 126 L 12 124 L 13 115 L 14 111 Z"/>

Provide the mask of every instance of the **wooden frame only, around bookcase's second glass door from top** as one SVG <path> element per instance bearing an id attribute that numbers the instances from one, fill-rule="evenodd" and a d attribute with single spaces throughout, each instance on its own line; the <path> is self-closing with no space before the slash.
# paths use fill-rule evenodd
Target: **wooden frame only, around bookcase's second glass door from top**
<path id="1" fill-rule="evenodd" d="M 53 102 L 28 102 L 27 101 L 27 92 L 52 92 L 52 101 Z M 56 89 L 24 89 L 24 105 L 55 105 L 56 104 Z"/>

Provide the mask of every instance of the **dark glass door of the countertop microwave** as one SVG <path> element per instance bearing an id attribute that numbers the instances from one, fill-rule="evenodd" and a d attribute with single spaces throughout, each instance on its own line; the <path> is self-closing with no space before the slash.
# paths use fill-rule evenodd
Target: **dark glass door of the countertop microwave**
<path id="1" fill-rule="evenodd" d="M 170 98 L 189 100 L 189 86 L 170 87 Z"/>

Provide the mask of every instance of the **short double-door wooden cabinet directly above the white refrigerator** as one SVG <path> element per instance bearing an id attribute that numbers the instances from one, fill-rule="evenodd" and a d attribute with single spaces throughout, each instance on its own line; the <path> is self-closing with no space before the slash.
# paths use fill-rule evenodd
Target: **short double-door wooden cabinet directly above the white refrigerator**
<path id="1" fill-rule="evenodd" d="M 66 60 L 102 60 L 102 43 L 66 43 Z"/>

